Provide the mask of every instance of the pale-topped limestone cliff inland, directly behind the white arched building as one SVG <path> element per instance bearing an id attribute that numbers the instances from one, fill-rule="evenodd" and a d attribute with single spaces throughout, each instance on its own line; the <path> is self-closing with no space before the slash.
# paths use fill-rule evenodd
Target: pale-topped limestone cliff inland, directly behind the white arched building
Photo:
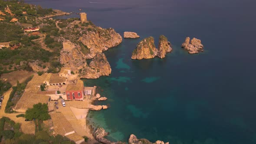
<path id="1" fill-rule="evenodd" d="M 59 61 L 65 67 L 78 73 L 79 69 L 87 67 L 84 55 L 80 52 L 79 46 L 71 43 L 69 40 L 63 42 L 63 50 L 60 52 Z"/>

